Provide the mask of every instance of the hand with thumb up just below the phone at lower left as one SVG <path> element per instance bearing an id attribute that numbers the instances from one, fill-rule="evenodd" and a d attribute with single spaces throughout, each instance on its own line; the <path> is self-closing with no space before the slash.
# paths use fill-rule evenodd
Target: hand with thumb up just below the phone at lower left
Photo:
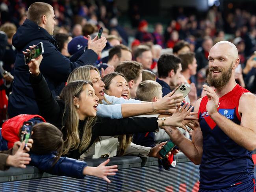
<path id="1" fill-rule="evenodd" d="M 20 168 L 26 168 L 26 164 L 29 164 L 31 158 L 29 154 L 26 153 L 23 149 L 25 147 L 25 141 L 19 147 L 19 150 L 15 153 L 15 155 L 9 155 L 6 159 L 7 166 L 14 166 Z"/>

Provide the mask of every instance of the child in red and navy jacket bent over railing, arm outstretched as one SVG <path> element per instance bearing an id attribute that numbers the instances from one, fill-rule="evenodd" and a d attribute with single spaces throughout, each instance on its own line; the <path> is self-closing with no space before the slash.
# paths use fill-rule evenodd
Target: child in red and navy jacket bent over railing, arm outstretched
<path id="1" fill-rule="evenodd" d="M 35 122 L 35 125 L 32 127 L 31 138 L 28 142 L 29 148 L 26 147 L 26 149 L 23 150 L 25 143 L 23 142 L 21 144 L 20 141 L 17 141 L 14 143 L 13 148 L 7 151 L 12 151 L 15 155 L 9 155 L 7 157 L 6 154 L 0 154 L 0 158 L 2 158 L 2 156 L 3 158 L 7 157 L 6 166 L 25 168 L 26 166 L 24 164 L 29 164 L 53 175 L 63 175 L 78 179 L 83 179 L 84 175 L 93 175 L 105 179 L 110 183 L 107 176 L 115 175 L 117 165 L 105 166 L 109 162 L 108 159 L 97 167 L 91 167 L 87 166 L 87 163 L 84 161 L 61 157 L 64 143 L 62 138 L 63 134 L 54 125 L 43 122 L 42 117 L 38 115 L 34 116 L 37 120 L 33 120 L 33 115 L 20 114 L 4 123 L 2 128 L 4 133 L 0 136 L 0 139 L 6 141 L 8 146 L 11 146 L 13 140 L 20 138 L 22 129 L 20 125 L 23 124 L 23 120 L 28 119 L 30 122 Z M 5 148 L 3 143 L 4 142 L 1 143 L 0 148 Z M 17 146 L 20 144 L 21 146 L 17 151 Z M 0 170 L 2 170 L 4 162 L 5 161 L 1 159 Z"/>

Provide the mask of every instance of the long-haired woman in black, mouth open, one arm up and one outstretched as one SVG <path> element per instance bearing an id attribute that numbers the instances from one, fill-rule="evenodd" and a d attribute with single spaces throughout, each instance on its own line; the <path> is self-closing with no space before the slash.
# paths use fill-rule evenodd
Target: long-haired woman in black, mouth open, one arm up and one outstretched
<path id="1" fill-rule="evenodd" d="M 55 124 L 63 132 L 63 154 L 78 159 L 98 138 L 106 135 L 123 135 L 139 132 L 154 132 L 158 126 L 173 125 L 186 127 L 182 124 L 184 118 L 197 118 L 189 115 L 190 105 L 178 107 L 175 113 L 164 119 L 158 118 L 126 118 L 109 119 L 97 118 L 98 98 L 92 83 L 87 81 L 73 81 L 62 90 L 59 99 L 52 96 L 45 78 L 39 71 L 42 56 L 38 61 L 32 59 L 29 63 L 30 81 L 42 116 L 48 122 Z M 190 113 L 195 114 L 195 113 Z M 196 123 L 196 122 L 195 122 Z"/>

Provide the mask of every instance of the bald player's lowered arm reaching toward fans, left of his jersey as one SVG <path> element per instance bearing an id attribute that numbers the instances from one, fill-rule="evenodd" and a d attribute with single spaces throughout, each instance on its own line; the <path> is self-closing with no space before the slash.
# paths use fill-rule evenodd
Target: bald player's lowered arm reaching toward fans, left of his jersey
<path id="1" fill-rule="evenodd" d="M 198 111 L 201 99 L 195 103 L 194 111 Z M 200 164 L 202 159 L 203 136 L 201 128 L 190 126 L 193 129 L 192 141 L 178 131 L 176 127 L 163 127 L 171 140 L 193 163 Z"/>

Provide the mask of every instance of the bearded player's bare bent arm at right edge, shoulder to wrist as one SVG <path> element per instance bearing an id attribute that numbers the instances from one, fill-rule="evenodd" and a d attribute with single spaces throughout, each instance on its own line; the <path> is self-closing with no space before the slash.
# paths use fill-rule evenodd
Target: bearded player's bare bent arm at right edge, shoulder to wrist
<path id="1" fill-rule="evenodd" d="M 208 101 L 209 102 L 209 101 Z M 241 124 L 237 125 L 218 112 L 208 113 L 221 130 L 243 148 L 253 151 L 256 148 L 256 96 L 245 93 L 239 100 L 238 112 Z"/>

